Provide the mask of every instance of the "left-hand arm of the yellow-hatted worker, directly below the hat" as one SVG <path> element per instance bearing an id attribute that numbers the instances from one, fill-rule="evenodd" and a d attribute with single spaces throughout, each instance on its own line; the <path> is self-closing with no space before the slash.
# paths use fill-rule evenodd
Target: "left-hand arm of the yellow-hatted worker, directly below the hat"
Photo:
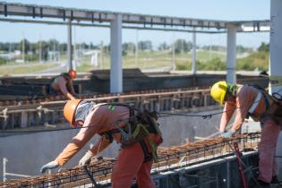
<path id="1" fill-rule="evenodd" d="M 226 102 L 220 120 L 219 132 L 225 132 L 226 125 L 229 123 L 233 113 L 235 112 L 235 103 Z"/>

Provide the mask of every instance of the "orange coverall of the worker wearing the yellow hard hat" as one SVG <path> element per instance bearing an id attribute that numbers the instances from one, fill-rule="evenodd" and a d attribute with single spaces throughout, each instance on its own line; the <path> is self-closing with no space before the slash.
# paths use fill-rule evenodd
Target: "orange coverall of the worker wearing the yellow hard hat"
<path id="1" fill-rule="evenodd" d="M 278 141 L 278 135 L 281 130 L 282 117 L 274 116 L 273 114 L 278 109 L 278 105 L 274 103 L 272 98 L 269 98 L 269 109 L 266 109 L 265 96 L 262 94 L 259 101 L 255 101 L 259 90 L 252 86 L 239 87 L 236 93 L 234 102 L 226 102 L 223 109 L 223 115 L 220 121 L 220 132 L 224 132 L 226 124 L 229 123 L 232 115 L 236 112 L 235 122 L 231 131 L 238 130 L 244 123 L 244 118 L 247 116 L 249 109 L 253 103 L 258 105 L 253 111 L 252 119 L 261 121 L 261 142 L 259 144 L 259 179 L 263 182 L 270 183 L 273 176 L 277 175 L 275 166 L 275 151 Z"/>

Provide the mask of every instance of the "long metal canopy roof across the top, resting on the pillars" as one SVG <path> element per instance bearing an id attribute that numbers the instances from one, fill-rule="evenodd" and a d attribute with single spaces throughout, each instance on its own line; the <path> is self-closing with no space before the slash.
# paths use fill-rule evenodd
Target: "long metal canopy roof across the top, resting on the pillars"
<path id="1" fill-rule="evenodd" d="M 123 28 L 127 29 L 218 33 L 226 32 L 228 25 L 233 24 L 238 27 L 239 32 L 269 31 L 269 21 L 216 21 L 6 2 L 0 2 L 1 14 L 4 18 L 0 21 L 67 24 L 66 20 L 70 20 L 74 25 L 92 27 L 109 27 L 109 22 L 115 18 L 115 14 L 122 14 Z M 10 19 L 8 16 L 13 18 Z M 14 16 L 21 19 L 15 19 Z"/>

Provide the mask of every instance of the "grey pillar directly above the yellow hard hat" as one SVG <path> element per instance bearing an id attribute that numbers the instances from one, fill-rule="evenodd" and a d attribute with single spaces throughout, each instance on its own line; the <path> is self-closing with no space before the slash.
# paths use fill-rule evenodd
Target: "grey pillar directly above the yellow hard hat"
<path id="1" fill-rule="evenodd" d="M 229 25 L 227 28 L 227 56 L 226 56 L 226 81 L 236 82 L 236 27 Z"/>

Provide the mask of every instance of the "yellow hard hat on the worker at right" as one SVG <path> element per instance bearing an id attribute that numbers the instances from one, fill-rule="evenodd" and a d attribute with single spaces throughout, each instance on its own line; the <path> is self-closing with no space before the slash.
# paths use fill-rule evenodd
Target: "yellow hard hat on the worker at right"
<path id="1" fill-rule="evenodd" d="M 226 97 L 227 83 L 226 81 L 218 81 L 211 87 L 210 96 L 215 99 L 219 105 L 223 104 Z"/>

